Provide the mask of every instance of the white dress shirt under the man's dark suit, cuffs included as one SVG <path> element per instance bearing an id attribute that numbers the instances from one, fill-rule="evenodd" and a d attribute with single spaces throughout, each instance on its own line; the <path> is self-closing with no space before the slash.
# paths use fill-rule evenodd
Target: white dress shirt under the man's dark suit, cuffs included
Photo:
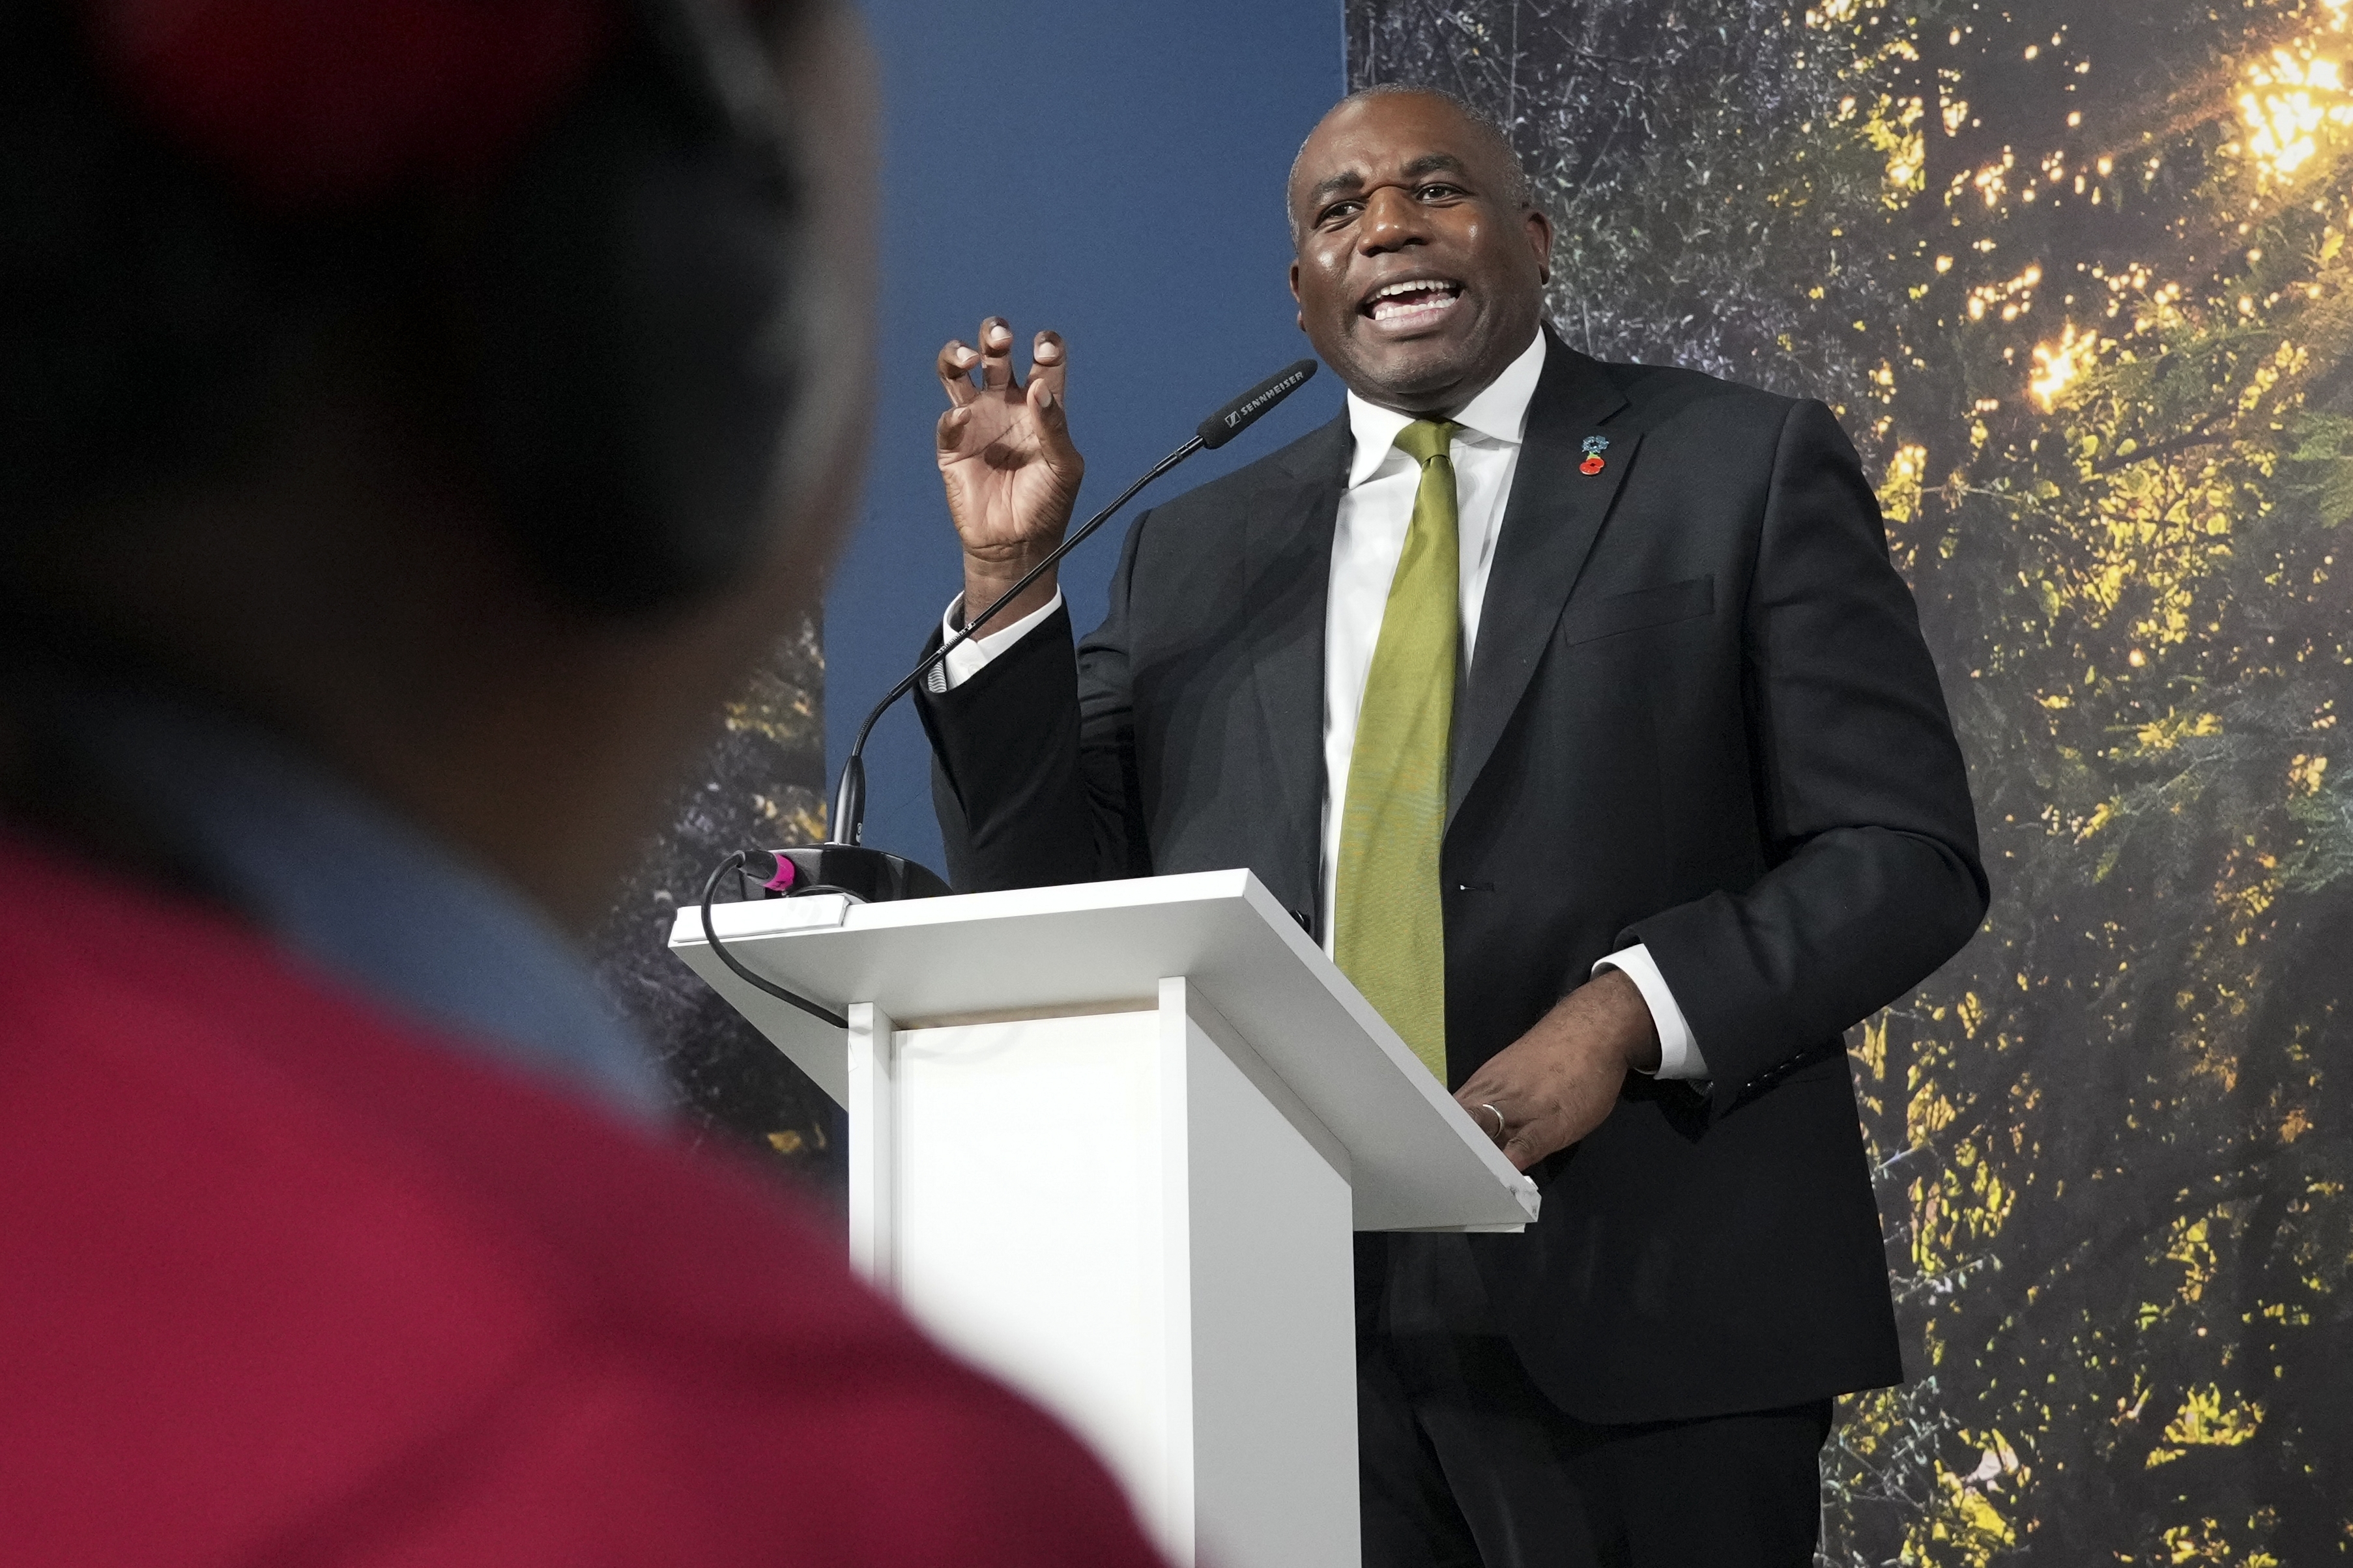
<path id="1" fill-rule="evenodd" d="M 1464 675 L 1478 649 L 1478 616 L 1487 599 L 1487 574 L 1494 567 L 1494 541 L 1504 527 L 1504 503 L 1520 465 L 1520 435 L 1527 428 L 1527 404 L 1544 374 L 1544 334 L 1513 360 L 1487 390 L 1473 397 L 1454 423 L 1449 444 L 1454 461 L 1454 517 L 1461 541 L 1461 621 Z M 1348 759 L 1355 752 L 1355 717 L 1365 705 L 1365 677 L 1372 672 L 1372 649 L 1381 639 L 1381 614 L 1388 607 L 1388 581 L 1405 555 L 1405 531 L 1414 520 L 1414 491 L 1421 465 L 1398 451 L 1398 433 L 1414 421 L 1348 393 L 1348 430 L 1355 456 L 1348 463 L 1348 489 L 1339 498 L 1339 522 L 1332 531 L 1332 588 L 1325 599 L 1325 806 L 1322 806 L 1322 877 L 1320 900 L 1325 952 L 1332 952 L 1332 889 L 1339 875 L 1341 802 L 1348 797 Z M 960 630 L 962 595 L 948 604 L 944 630 Z M 1012 625 L 974 637 L 941 663 L 939 689 L 972 679 L 991 658 L 1026 637 L 1061 609 L 1061 595 Z M 1704 1079 L 1708 1065 L 1692 1039 L 1675 994 L 1666 987 L 1659 964 L 1640 943 L 1612 952 L 1593 966 L 1619 969 L 1642 992 L 1659 1030 L 1659 1070 L 1664 1079 Z"/>

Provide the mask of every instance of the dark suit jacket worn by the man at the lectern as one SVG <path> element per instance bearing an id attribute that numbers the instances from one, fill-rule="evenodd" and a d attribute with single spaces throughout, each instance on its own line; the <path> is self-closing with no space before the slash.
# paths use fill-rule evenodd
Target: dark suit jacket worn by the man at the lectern
<path id="1" fill-rule="evenodd" d="M 1348 454 L 1339 418 L 1146 512 L 1075 651 L 1056 616 L 922 693 L 960 889 L 1247 865 L 1315 912 Z M 1539 1387 L 1631 1422 L 1901 1380 L 1840 1037 L 1969 938 L 1986 877 L 1831 411 L 1551 343 L 1449 783 L 1452 1079 L 1628 943 L 1715 1074 L 1628 1079 L 1534 1171 L 1541 1220 L 1473 1237 Z"/>

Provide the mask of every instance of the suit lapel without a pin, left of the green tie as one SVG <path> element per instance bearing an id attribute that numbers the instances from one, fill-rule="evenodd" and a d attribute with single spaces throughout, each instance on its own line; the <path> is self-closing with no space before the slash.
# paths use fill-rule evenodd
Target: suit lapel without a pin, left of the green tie
<path id="1" fill-rule="evenodd" d="M 1299 442 L 1285 465 L 1289 482 L 1257 498 L 1242 541 L 1242 635 L 1271 764 L 1259 818 L 1268 856 L 1299 879 L 1282 893 L 1306 896 L 1311 914 L 1322 853 L 1325 599 L 1351 444 L 1346 414 Z"/>

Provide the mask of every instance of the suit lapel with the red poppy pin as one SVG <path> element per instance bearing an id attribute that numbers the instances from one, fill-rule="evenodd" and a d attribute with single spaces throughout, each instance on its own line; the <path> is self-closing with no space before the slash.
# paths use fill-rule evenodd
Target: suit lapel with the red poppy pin
<path id="1" fill-rule="evenodd" d="M 1546 331 L 1544 376 L 1527 404 L 1520 465 L 1513 470 L 1504 529 L 1494 543 L 1487 597 L 1480 604 L 1471 682 L 1454 710 L 1454 755 L 1447 769 L 1447 823 L 1461 809 L 1504 726 L 1527 693 L 1553 625 L 1569 602 L 1593 541 L 1617 501 L 1640 444 L 1638 430 L 1607 435 L 1602 470 L 1579 473 L 1584 440 L 1626 407 L 1600 364 Z"/>

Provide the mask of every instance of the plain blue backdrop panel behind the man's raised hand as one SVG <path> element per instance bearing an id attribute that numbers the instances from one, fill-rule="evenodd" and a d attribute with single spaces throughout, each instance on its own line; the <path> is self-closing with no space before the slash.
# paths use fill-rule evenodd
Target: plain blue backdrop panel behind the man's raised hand
<path id="1" fill-rule="evenodd" d="M 1285 268 L 1282 179 L 1344 92 L 1337 0 L 939 5 L 866 0 L 882 56 L 882 390 L 864 527 L 826 599 L 826 755 L 849 750 L 960 588 L 932 463 L 939 346 L 988 313 L 1024 346 L 1071 341 L 1080 515 L 1233 393 L 1308 353 Z M 1339 407 L 1313 388 L 1136 508 L 1294 440 Z M 1134 515 L 1134 512 L 1129 512 Z M 1104 614 L 1120 522 L 1064 569 L 1080 630 Z M 929 750 L 906 703 L 866 748 L 866 842 L 939 870 Z"/>

